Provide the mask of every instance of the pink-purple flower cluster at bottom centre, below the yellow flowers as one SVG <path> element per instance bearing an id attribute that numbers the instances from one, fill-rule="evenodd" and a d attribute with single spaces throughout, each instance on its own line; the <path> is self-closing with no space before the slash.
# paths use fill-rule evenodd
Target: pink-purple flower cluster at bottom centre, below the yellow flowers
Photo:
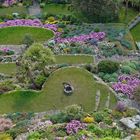
<path id="1" fill-rule="evenodd" d="M 72 120 L 71 122 L 67 124 L 66 131 L 68 134 L 76 134 L 78 130 L 85 129 L 85 127 L 86 127 L 86 124 L 81 123 L 78 120 Z"/>

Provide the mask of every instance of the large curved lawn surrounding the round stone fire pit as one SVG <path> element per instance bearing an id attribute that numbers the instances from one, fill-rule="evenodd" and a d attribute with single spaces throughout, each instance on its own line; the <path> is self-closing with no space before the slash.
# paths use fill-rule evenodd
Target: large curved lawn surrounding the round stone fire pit
<path id="1" fill-rule="evenodd" d="M 74 93 L 66 96 L 63 92 L 63 82 L 69 82 L 74 87 Z M 95 109 L 95 95 L 101 91 L 100 108 L 105 107 L 109 89 L 93 79 L 93 75 L 81 68 L 63 68 L 54 72 L 41 93 L 20 92 L 0 95 L 0 113 L 21 111 L 47 111 L 62 109 L 68 105 L 79 104 L 86 111 Z M 116 99 L 111 93 L 110 107 L 114 107 Z"/>

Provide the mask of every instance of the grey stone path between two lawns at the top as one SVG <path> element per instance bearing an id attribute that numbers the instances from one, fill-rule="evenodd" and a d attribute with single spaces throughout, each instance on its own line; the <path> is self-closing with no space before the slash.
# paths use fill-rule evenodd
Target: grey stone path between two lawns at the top
<path id="1" fill-rule="evenodd" d="M 29 15 L 30 16 L 37 16 L 41 14 L 41 8 L 37 1 L 33 1 L 33 5 L 29 7 Z"/>

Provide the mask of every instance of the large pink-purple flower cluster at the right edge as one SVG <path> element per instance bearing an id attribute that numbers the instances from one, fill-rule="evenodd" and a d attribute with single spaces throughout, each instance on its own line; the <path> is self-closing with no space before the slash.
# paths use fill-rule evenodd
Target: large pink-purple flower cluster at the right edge
<path id="1" fill-rule="evenodd" d="M 134 93 L 134 90 L 140 86 L 140 79 L 134 76 L 122 75 L 118 77 L 118 82 L 112 85 L 116 92 L 124 93 L 129 97 Z"/>

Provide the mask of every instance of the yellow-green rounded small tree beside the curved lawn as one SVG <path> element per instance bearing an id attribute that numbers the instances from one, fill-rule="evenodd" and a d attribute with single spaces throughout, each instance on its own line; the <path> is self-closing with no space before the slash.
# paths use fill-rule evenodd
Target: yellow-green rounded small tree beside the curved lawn
<path id="1" fill-rule="evenodd" d="M 27 82 L 29 80 L 34 88 L 40 89 L 42 82 L 38 84 L 39 79 L 36 78 L 38 75 L 45 75 L 45 66 L 54 63 L 54 61 L 54 55 L 49 48 L 45 48 L 42 44 L 33 44 L 26 50 L 19 62 L 19 71 L 23 81 Z M 38 71 L 38 74 L 35 74 L 36 71 Z M 44 78 L 41 77 L 41 79 L 43 79 L 41 81 L 44 81 Z"/>

